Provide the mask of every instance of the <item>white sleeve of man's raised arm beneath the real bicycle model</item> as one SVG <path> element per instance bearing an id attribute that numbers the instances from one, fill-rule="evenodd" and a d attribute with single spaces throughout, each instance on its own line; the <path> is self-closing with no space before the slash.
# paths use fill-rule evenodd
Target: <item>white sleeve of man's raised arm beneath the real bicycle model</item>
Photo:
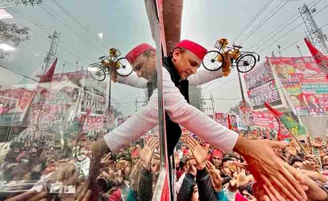
<path id="1" fill-rule="evenodd" d="M 188 77 L 190 86 L 198 86 L 222 77 L 222 68 L 217 71 L 201 70 Z"/>

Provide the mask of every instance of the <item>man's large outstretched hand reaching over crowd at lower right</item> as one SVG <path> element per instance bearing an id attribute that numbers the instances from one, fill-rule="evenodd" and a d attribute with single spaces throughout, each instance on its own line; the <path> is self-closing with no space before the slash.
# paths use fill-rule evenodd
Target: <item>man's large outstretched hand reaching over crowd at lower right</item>
<path id="1" fill-rule="evenodd" d="M 283 160 L 274 151 L 286 146 L 286 142 L 248 140 L 239 136 L 234 150 L 244 157 L 249 164 L 249 171 L 257 181 L 264 184 L 264 188 L 280 192 L 285 199 L 306 200 L 307 196 L 300 185 L 304 182 L 303 178 L 296 178 L 286 169 Z"/>

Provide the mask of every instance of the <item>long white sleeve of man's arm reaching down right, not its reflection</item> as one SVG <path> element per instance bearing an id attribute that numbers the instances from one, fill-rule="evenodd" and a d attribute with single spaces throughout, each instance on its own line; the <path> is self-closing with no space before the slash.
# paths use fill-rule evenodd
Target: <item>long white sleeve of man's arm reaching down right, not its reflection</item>
<path id="1" fill-rule="evenodd" d="M 179 89 L 174 86 L 170 74 L 163 69 L 164 105 L 173 122 L 195 133 L 211 145 L 229 153 L 234 148 L 238 133 L 221 126 L 213 119 L 189 105 Z"/>

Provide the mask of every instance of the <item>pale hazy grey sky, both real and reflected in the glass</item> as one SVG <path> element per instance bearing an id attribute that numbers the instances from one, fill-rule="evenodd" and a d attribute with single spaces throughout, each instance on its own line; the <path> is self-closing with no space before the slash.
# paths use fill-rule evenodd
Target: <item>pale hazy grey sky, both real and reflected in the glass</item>
<path id="1" fill-rule="evenodd" d="M 92 62 L 97 62 L 97 58 L 107 54 L 107 49 L 111 47 L 119 48 L 122 54 L 125 55 L 132 47 L 139 43 L 150 43 L 154 45 L 144 1 L 57 1 L 77 19 L 78 23 L 87 28 L 88 31 L 81 28 L 77 22 L 72 21 L 68 15 L 61 11 L 53 1 L 50 0 L 45 0 L 41 7 L 54 15 L 58 20 L 39 6 L 34 8 L 25 6 L 13 7 L 14 11 L 22 13 L 24 17 L 27 17 L 50 33 L 55 29 L 60 33 L 57 73 L 62 71 L 64 62 L 74 65 L 76 60 L 78 60 L 78 65 L 83 65 L 84 67 Z M 183 5 L 181 39 L 191 39 L 202 44 L 209 50 L 213 48 L 215 41 L 219 37 L 227 37 L 232 41 L 266 2 L 267 1 L 259 0 L 224 2 L 217 0 L 186 0 Z M 305 27 L 302 25 L 290 34 L 281 37 L 300 24 L 302 22 L 301 18 L 288 26 L 288 28 L 280 34 L 276 35 L 267 44 L 263 45 L 263 42 L 267 41 L 267 39 L 264 39 L 262 43 L 259 43 L 259 45 L 263 45 L 261 48 L 257 48 L 258 42 L 262 38 L 267 37 L 271 31 L 281 27 L 287 19 L 297 14 L 298 8 L 303 3 L 310 4 L 312 2 L 312 0 L 288 2 L 277 14 L 241 45 L 244 47 L 255 46 L 250 50 L 256 50 L 261 55 L 262 61 L 264 56 L 271 56 L 272 50 L 275 50 L 277 54 L 277 45 L 284 48 L 304 36 Z M 274 0 L 242 37 L 253 30 L 253 28 L 280 3 L 280 0 Z M 319 11 L 326 6 L 326 4 L 326 1 L 319 2 L 316 6 L 317 10 Z M 12 10 L 7 9 L 7 12 L 11 13 L 16 18 L 18 24 L 30 27 L 30 39 L 22 43 L 17 48 L 17 51 L 12 52 L 8 58 L 1 60 L 0 63 L 13 70 L 31 75 L 44 64 L 45 52 L 49 50 L 50 42 L 46 41 L 43 37 L 48 38 L 48 34 L 35 24 L 27 21 L 26 18 L 17 15 L 17 13 Z M 327 10 L 323 10 L 315 16 L 315 20 L 319 26 L 327 24 L 327 18 Z M 63 23 L 67 26 L 63 25 Z M 75 33 L 68 27 L 74 30 Z M 328 30 L 328 28 L 326 27 L 323 30 Z M 102 40 L 98 36 L 98 33 L 103 33 Z M 259 50 L 267 47 L 267 45 L 270 45 L 278 38 L 281 38 L 280 41 L 259 52 Z M 64 44 L 68 44 L 69 47 Z M 301 51 L 304 55 L 310 54 L 302 41 L 297 43 L 297 45 L 301 47 Z M 299 55 L 295 46 L 286 49 L 282 54 L 284 56 Z M 66 64 L 64 69 L 65 72 L 75 70 L 75 67 L 70 64 Z M 1 85 L 18 83 L 21 80 L 12 73 L 8 75 L 4 73 L 3 70 L 1 70 L 0 73 Z M 205 86 L 206 87 L 203 87 L 204 97 L 209 97 L 210 93 L 213 93 L 215 98 L 241 97 L 236 70 L 234 70 L 229 77 L 218 79 Z M 112 102 L 125 114 L 130 114 L 134 108 L 134 104 L 128 103 L 131 102 L 131 100 L 133 101 L 135 96 L 141 100 L 143 95 L 142 90 L 118 84 L 114 85 L 112 92 Z M 227 112 L 230 106 L 234 106 L 238 102 L 239 100 L 216 100 L 216 110 Z"/>

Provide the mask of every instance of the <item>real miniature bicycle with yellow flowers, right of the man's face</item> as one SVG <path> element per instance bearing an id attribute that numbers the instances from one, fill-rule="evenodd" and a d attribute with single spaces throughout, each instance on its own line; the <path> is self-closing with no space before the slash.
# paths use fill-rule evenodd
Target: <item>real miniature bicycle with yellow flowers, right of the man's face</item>
<path id="1" fill-rule="evenodd" d="M 247 73 L 251 71 L 256 62 L 260 61 L 260 55 L 255 52 L 240 51 L 241 46 L 232 45 L 228 46 L 229 42 L 226 38 L 221 38 L 216 41 L 214 48 L 217 50 L 209 51 L 202 62 L 203 67 L 209 71 L 217 71 L 222 67 L 224 63 L 224 55 L 230 54 L 231 56 L 231 67 L 237 67 L 237 70 L 241 73 Z M 222 69 L 224 76 L 228 76 L 231 71 L 230 67 Z"/>

